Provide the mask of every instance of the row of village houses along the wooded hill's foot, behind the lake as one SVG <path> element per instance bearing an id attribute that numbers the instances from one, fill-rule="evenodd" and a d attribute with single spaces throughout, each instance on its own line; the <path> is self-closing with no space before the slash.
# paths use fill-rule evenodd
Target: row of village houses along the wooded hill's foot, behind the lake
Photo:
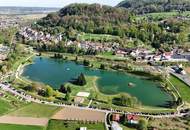
<path id="1" fill-rule="evenodd" d="M 38 41 L 43 44 L 59 44 L 63 40 L 62 34 L 51 35 L 42 31 L 36 31 L 30 27 L 24 27 L 19 34 L 27 41 Z M 190 52 L 184 52 L 183 49 L 173 48 L 172 51 L 149 50 L 142 47 L 122 48 L 116 42 L 92 42 L 92 41 L 71 41 L 67 40 L 65 47 L 76 46 L 83 50 L 94 50 L 99 52 L 112 52 L 118 57 L 132 57 L 140 62 L 187 62 L 190 60 Z"/>

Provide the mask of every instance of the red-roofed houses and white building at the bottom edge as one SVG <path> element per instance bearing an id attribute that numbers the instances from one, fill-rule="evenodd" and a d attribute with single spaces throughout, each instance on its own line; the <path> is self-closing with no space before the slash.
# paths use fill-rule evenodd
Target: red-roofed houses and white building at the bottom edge
<path id="1" fill-rule="evenodd" d="M 122 120 L 125 120 L 127 124 L 129 125 L 137 125 L 139 123 L 139 117 L 132 114 L 127 114 L 124 116 L 121 116 L 120 114 L 112 114 L 112 124 L 111 129 L 112 130 L 123 130 L 123 128 L 119 125 L 119 122 Z"/>

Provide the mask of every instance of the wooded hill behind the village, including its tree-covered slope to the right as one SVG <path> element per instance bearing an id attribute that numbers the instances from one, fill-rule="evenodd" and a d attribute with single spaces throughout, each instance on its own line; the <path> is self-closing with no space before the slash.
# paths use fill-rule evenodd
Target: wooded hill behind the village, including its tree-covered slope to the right
<path id="1" fill-rule="evenodd" d="M 33 28 L 53 35 L 62 33 L 66 40 L 79 40 L 77 36 L 81 33 L 110 34 L 118 36 L 117 41 L 123 46 L 128 46 L 129 39 L 132 39 L 130 42 L 133 46 L 143 43 L 160 48 L 183 43 L 187 39 L 184 32 L 188 26 L 186 21 L 175 19 L 162 23 L 137 20 L 133 13 L 124 8 L 72 4 L 47 15 Z"/>

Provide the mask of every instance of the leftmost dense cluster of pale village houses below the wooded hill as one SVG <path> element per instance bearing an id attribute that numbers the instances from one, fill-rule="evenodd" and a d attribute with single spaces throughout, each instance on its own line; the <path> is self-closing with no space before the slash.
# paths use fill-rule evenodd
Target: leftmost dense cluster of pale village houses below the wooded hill
<path id="1" fill-rule="evenodd" d="M 50 33 L 44 33 L 42 31 L 36 31 L 30 27 L 24 27 L 20 29 L 19 34 L 23 36 L 28 41 L 39 41 L 42 43 L 59 43 L 62 41 L 62 34 L 56 36 L 51 35 Z"/>

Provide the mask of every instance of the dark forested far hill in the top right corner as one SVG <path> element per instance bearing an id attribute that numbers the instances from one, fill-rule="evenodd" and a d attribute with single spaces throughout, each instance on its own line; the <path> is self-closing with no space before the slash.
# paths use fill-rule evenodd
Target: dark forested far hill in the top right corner
<path id="1" fill-rule="evenodd" d="M 190 11 L 190 0 L 124 0 L 117 7 L 125 7 L 138 14 Z"/>

